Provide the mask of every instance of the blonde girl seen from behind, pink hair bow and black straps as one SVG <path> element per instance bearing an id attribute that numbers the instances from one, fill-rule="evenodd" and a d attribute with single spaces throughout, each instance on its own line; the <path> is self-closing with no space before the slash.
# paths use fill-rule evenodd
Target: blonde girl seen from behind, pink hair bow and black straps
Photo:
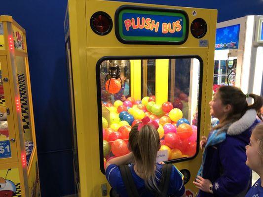
<path id="1" fill-rule="evenodd" d="M 183 179 L 175 166 L 156 164 L 159 125 L 154 121 L 149 123 L 149 117 L 142 121 L 130 131 L 131 153 L 106 164 L 107 180 L 120 197 L 185 197 Z"/>

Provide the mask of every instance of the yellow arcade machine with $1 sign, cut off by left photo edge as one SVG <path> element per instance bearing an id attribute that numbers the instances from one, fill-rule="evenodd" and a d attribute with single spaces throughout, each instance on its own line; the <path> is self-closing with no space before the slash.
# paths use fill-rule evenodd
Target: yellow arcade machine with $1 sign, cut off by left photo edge
<path id="1" fill-rule="evenodd" d="M 0 16 L 0 197 L 38 197 L 38 158 L 25 30 Z"/>

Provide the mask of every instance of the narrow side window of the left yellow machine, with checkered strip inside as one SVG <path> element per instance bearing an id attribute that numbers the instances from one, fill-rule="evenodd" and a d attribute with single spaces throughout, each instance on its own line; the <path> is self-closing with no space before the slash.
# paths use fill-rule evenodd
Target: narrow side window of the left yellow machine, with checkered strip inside
<path id="1" fill-rule="evenodd" d="M 33 151 L 33 138 L 32 130 L 30 123 L 30 114 L 28 106 L 28 87 L 27 87 L 27 77 L 26 77 L 26 65 L 24 57 L 15 57 L 16 69 L 17 69 L 17 79 L 19 85 L 19 94 L 20 94 L 20 104 L 21 104 L 21 113 L 22 113 L 22 123 L 24 131 L 24 140 L 25 140 L 25 150 L 27 157 L 27 164 L 29 163 L 30 156 Z"/>

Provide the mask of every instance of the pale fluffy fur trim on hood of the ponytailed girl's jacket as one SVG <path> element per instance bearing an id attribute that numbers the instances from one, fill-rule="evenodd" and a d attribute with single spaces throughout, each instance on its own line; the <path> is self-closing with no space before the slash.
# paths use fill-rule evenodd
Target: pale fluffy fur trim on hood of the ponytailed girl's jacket
<path id="1" fill-rule="evenodd" d="M 228 135 L 239 135 L 243 131 L 249 129 L 257 119 L 257 111 L 255 109 L 249 109 L 238 120 L 229 125 L 227 129 Z"/>

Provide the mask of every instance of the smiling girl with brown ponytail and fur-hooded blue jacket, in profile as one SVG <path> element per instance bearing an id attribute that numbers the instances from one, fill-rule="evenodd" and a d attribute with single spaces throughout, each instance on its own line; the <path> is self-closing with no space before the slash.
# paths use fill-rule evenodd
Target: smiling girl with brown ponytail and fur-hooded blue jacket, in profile
<path id="1" fill-rule="evenodd" d="M 248 105 L 247 98 L 254 99 Z M 236 87 L 221 87 L 210 104 L 210 115 L 219 119 L 208 138 L 202 136 L 204 149 L 201 167 L 193 184 L 197 197 L 244 197 L 251 186 L 251 170 L 245 164 L 246 145 L 252 129 L 261 119 L 260 96 L 245 95 Z"/>

